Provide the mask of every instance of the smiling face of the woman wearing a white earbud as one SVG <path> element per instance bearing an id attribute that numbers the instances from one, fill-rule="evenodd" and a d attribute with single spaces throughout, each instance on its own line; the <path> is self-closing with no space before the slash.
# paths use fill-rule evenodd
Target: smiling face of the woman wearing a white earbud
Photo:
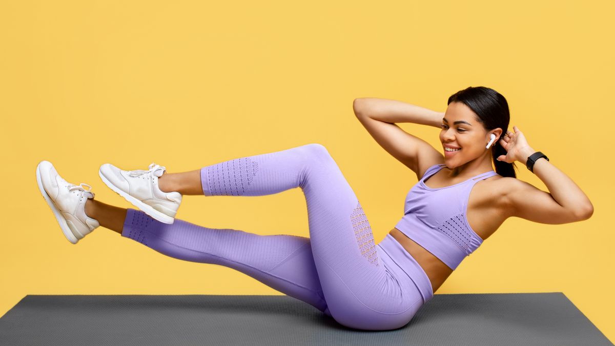
<path id="1" fill-rule="evenodd" d="M 495 141 L 491 143 L 489 149 L 485 147 L 490 141 L 490 134 L 498 131 L 486 131 L 477 119 L 478 116 L 474 111 L 464 103 L 451 102 L 446 108 L 440 131 L 446 166 L 458 167 L 486 153 L 491 155 L 490 151 Z M 499 132 L 495 135 L 498 136 Z M 448 148 L 456 151 L 446 151 Z"/>

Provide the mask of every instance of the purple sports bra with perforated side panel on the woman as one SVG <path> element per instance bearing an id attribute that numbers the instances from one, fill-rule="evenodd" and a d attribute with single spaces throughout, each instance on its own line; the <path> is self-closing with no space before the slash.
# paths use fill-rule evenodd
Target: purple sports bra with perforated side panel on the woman
<path id="1" fill-rule="evenodd" d="M 444 166 L 435 164 L 429 167 L 423 178 L 410 189 L 404 215 L 395 228 L 455 270 L 483 243 L 467 222 L 470 191 L 475 183 L 497 173 L 491 170 L 451 186 L 427 187 L 424 181 Z"/>

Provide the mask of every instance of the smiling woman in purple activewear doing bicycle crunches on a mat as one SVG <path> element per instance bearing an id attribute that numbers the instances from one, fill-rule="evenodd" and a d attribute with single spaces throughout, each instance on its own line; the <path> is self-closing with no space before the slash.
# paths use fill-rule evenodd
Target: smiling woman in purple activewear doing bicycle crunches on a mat
<path id="1" fill-rule="evenodd" d="M 587 196 L 544 155 L 533 155 L 517 127 L 504 132 L 508 105 L 493 89 L 459 91 L 445 113 L 371 98 L 356 99 L 354 111 L 376 142 L 419 178 L 402 220 L 378 245 L 354 191 L 315 143 L 183 173 L 154 163 L 135 171 L 103 164 L 103 182 L 140 210 L 93 199 L 90 185 L 66 182 L 49 161 L 39 163 L 37 181 L 71 243 L 101 225 L 177 259 L 234 268 L 344 326 L 366 330 L 407 324 L 508 217 L 567 223 L 592 215 Z M 443 153 L 395 122 L 442 127 Z M 528 167 L 550 193 L 515 179 L 512 163 L 526 164 L 529 156 Z M 309 238 L 174 219 L 183 195 L 262 196 L 296 187 L 306 198 Z"/>

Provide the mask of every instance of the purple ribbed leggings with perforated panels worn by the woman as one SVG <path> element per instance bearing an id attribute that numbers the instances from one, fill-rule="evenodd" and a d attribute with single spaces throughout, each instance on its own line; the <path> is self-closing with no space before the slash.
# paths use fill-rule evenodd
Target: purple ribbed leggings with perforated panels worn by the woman
<path id="1" fill-rule="evenodd" d="M 405 326 L 434 296 L 429 278 L 391 235 L 374 243 L 354 191 L 327 149 L 307 144 L 200 170 L 205 196 L 263 196 L 300 187 L 309 238 L 169 225 L 128 209 L 122 236 L 176 259 L 223 265 L 313 305 L 349 328 Z"/>

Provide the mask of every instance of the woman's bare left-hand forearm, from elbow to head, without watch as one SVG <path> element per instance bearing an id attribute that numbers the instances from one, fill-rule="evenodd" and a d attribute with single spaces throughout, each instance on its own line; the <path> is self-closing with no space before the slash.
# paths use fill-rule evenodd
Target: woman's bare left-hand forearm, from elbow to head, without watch
<path id="1" fill-rule="evenodd" d="M 376 97 L 360 97 L 354 100 L 352 106 L 355 113 L 362 113 L 371 119 L 385 123 L 415 123 L 439 129 L 442 127 L 442 118 L 444 118 L 444 112 Z"/>

